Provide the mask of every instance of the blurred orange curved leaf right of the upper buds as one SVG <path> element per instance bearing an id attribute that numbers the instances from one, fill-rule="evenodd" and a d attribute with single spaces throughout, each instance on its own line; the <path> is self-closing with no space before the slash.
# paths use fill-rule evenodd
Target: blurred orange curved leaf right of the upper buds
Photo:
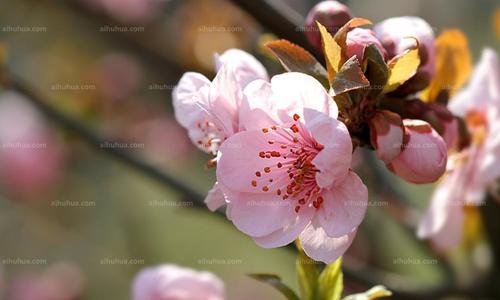
<path id="1" fill-rule="evenodd" d="M 467 37 L 458 29 L 444 31 L 436 39 L 436 73 L 421 99 L 434 102 L 442 91 L 452 96 L 467 81 L 471 69 Z"/>

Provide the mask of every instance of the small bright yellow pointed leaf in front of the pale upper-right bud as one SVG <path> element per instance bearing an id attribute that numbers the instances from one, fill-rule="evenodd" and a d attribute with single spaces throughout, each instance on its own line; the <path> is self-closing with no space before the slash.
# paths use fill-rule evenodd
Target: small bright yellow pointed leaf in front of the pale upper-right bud
<path id="1" fill-rule="evenodd" d="M 400 55 L 395 56 L 389 61 L 389 78 L 383 92 L 389 93 L 397 89 L 417 73 L 420 65 L 420 56 L 418 54 L 418 43 L 414 49 L 409 49 Z"/>

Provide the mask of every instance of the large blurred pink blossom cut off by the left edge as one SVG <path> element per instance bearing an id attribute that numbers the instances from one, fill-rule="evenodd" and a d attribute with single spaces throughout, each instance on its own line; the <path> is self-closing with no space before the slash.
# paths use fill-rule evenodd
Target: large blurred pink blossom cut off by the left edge
<path id="1" fill-rule="evenodd" d="M 0 95 L 0 180 L 21 196 L 39 196 L 60 178 L 63 149 L 23 96 Z"/>

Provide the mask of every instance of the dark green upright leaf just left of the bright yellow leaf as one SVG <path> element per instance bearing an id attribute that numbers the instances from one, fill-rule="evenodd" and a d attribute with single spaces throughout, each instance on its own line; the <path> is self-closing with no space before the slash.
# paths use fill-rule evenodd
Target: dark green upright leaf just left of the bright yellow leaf
<path id="1" fill-rule="evenodd" d="M 387 67 L 384 58 L 378 51 L 375 45 L 370 45 L 365 48 L 363 55 L 363 71 L 366 78 L 370 81 L 370 95 L 377 96 L 380 94 L 389 78 L 389 68 Z"/>

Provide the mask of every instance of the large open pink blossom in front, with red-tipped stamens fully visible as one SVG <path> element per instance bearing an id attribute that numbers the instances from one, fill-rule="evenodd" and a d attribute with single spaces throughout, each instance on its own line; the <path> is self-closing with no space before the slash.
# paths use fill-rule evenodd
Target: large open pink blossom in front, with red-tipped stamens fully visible
<path id="1" fill-rule="evenodd" d="M 334 261 L 352 242 L 368 201 L 350 170 L 352 142 L 335 102 L 302 73 L 256 80 L 244 94 L 245 131 L 219 149 L 228 217 L 262 247 L 299 237 L 313 259 Z"/>

